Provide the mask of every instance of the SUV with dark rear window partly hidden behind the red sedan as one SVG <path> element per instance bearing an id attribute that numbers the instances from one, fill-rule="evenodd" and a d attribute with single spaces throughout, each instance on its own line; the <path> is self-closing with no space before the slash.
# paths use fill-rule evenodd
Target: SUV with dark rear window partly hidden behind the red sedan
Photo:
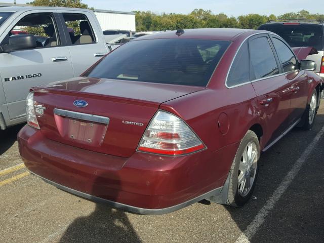
<path id="1" fill-rule="evenodd" d="M 258 29 L 280 35 L 291 47 L 314 47 L 318 54 L 307 59 L 317 64 L 315 72 L 324 77 L 324 22 L 305 19 L 278 19 L 262 24 Z"/>

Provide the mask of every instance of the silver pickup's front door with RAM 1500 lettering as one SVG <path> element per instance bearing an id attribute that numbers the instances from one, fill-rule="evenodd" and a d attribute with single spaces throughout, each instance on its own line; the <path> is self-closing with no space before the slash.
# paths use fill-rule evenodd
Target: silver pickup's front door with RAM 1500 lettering
<path id="1" fill-rule="evenodd" d="M 9 125 L 25 120 L 25 99 L 31 87 L 73 77 L 69 50 L 62 46 L 66 40 L 61 36 L 62 27 L 57 24 L 56 16 L 53 11 L 26 11 L 18 16 L 0 37 L 3 45 L 6 44 L 6 38 L 10 38 L 12 29 L 24 29 L 29 34 L 36 35 L 37 32 L 43 31 L 44 26 L 52 24 L 54 28 L 54 33 L 51 34 L 55 41 L 52 36 L 43 37 L 44 41 L 52 40 L 47 46 L 38 42 L 39 46 L 35 49 L 0 53 L 0 74 L 9 111 Z"/>

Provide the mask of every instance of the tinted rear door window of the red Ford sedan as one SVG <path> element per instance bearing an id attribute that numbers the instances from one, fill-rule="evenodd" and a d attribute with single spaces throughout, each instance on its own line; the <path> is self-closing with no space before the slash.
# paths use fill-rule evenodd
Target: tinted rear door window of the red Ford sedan
<path id="1" fill-rule="evenodd" d="M 252 39 L 249 43 L 250 58 L 255 78 L 263 78 L 279 73 L 274 54 L 267 37 Z"/>

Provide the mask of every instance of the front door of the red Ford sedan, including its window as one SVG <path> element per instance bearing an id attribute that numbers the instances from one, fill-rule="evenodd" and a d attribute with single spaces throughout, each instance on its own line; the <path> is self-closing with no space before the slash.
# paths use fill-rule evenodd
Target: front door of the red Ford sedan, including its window
<path id="1" fill-rule="evenodd" d="M 307 76 L 304 70 L 299 70 L 299 63 L 292 50 L 278 37 L 271 36 L 274 49 L 278 55 L 283 77 L 290 84 L 290 118 L 289 125 L 295 123 L 304 113 L 308 96 L 308 85 L 312 78 Z"/>

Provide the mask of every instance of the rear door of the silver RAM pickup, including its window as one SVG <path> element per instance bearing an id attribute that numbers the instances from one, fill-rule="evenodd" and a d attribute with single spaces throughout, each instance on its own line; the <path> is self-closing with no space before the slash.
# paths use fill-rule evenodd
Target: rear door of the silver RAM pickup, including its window
<path id="1" fill-rule="evenodd" d="M 94 14 L 82 10 L 59 12 L 68 36 L 68 49 L 71 53 L 74 76 L 79 76 L 109 50 Z"/>

